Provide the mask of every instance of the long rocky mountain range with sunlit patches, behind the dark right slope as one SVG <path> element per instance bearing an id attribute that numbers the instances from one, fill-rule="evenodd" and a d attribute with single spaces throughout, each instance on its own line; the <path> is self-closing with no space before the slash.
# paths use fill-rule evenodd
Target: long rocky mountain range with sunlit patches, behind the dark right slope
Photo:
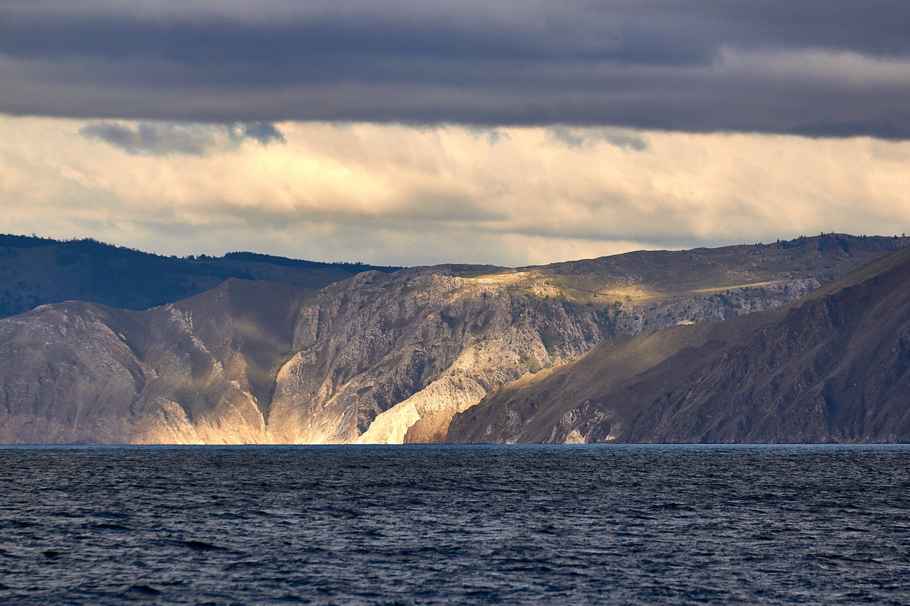
<path id="1" fill-rule="evenodd" d="M 826 235 L 364 271 L 319 289 L 233 278 L 145 310 L 39 306 L 0 320 L 0 441 L 438 439 L 490 391 L 605 339 L 595 351 L 652 327 L 725 326 L 703 320 L 785 304 L 902 243 Z"/>

